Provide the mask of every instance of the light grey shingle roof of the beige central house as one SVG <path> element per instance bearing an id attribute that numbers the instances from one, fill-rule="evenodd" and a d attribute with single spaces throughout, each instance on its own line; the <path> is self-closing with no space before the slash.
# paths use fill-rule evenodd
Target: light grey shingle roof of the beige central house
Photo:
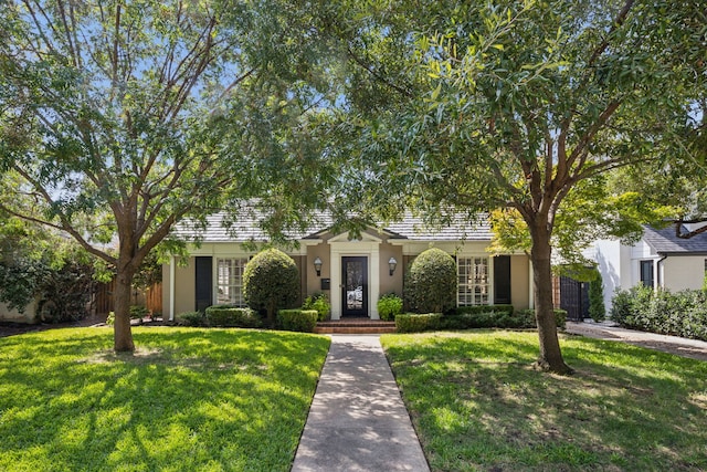
<path id="1" fill-rule="evenodd" d="M 243 212 L 234 223 L 229 223 L 226 213 L 213 213 L 207 217 L 205 227 L 194 222 L 184 221 L 176 225 L 172 233 L 182 239 L 199 239 L 202 242 L 246 242 L 267 241 L 268 238 L 258 224 L 258 216 L 253 212 Z M 333 225 L 328 214 L 319 214 L 315 222 L 305 231 L 293 231 L 288 234 L 292 239 L 305 239 L 316 237 Z M 490 241 L 492 231 L 488 220 L 479 218 L 469 223 L 465 218 L 452 218 L 449 224 L 440 228 L 425 224 L 421 218 L 407 216 L 402 221 L 388 224 L 374 224 L 384 232 L 391 234 L 391 239 L 405 239 L 412 241 Z"/>

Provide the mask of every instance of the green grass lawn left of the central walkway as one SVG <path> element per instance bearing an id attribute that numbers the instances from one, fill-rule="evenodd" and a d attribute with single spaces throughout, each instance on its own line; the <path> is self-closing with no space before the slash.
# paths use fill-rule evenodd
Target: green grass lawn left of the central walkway
<path id="1" fill-rule="evenodd" d="M 0 470 L 288 471 L 329 347 L 240 329 L 0 339 Z"/>

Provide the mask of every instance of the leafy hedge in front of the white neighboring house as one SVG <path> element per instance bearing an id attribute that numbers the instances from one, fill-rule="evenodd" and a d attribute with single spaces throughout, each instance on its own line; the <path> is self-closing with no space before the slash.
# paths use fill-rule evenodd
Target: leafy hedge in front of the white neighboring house
<path id="1" fill-rule="evenodd" d="M 707 340 L 707 293 L 643 286 L 618 291 L 611 318 L 626 328 Z"/>

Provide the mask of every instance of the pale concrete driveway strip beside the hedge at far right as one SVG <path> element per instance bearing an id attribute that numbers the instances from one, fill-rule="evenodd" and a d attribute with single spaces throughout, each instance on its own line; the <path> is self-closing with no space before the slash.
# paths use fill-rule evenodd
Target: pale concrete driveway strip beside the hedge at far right
<path id="1" fill-rule="evenodd" d="M 683 357 L 707 360 L 707 342 L 625 329 L 612 322 L 594 323 L 591 319 L 583 323 L 567 322 L 566 332 L 598 339 L 620 340 Z"/>

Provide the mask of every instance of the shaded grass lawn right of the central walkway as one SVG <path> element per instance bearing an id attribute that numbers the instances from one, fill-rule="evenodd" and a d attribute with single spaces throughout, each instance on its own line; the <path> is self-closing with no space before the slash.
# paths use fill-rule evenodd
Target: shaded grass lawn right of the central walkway
<path id="1" fill-rule="evenodd" d="M 536 333 L 381 343 L 433 471 L 707 470 L 705 361 L 562 335 L 561 377 Z"/>

